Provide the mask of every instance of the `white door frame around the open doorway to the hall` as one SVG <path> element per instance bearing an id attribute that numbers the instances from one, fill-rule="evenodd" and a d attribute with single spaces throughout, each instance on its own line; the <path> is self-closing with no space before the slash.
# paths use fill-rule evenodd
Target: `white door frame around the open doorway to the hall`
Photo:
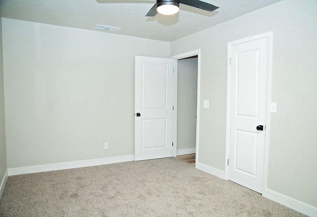
<path id="1" fill-rule="evenodd" d="M 200 102 L 200 49 L 171 56 L 174 59 L 174 113 L 173 113 L 173 156 L 177 154 L 177 60 L 191 56 L 198 56 L 197 64 L 197 120 L 196 120 L 196 162 L 198 162 L 199 146 L 199 102 Z M 197 164 L 196 164 L 197 165 Z"/>

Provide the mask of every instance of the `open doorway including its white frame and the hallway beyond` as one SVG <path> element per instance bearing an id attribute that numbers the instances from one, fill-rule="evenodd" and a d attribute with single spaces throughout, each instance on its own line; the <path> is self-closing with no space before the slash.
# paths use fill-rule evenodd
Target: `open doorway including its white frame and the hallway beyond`
<path id="1" fill-rule="evenodd" d="M 172 56 L 174 68 L 174 156 L 198 161 L 200 50 Z"/>

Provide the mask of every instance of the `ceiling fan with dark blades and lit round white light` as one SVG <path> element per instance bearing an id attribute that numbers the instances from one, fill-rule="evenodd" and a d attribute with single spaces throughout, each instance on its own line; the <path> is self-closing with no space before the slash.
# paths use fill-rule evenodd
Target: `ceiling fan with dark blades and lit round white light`
<path id="1" fill-rule="evenodd" d="M 157 0 L 157 3 L 145 16 L 155 16 L 157 13 L 172 15 L 179 11 L 179 4 L 187 4 L 207 11 L 213 11 L 219 7 L 200 0 Z"/>

